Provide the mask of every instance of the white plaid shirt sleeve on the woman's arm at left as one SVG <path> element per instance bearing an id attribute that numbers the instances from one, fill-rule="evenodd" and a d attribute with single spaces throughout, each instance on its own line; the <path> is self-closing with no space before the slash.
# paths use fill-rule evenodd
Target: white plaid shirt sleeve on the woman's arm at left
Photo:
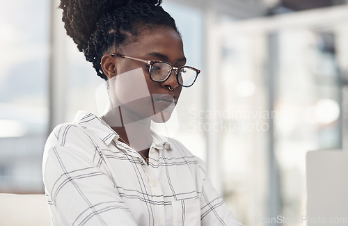
<path id="1" fill-rule="evenodd" d="M 79 137 L 79 143 L 69 144 L 77 139 L 74 130 L 64 134 L 65 140 L 56 136 L 58 145 L 44 153 L 43 180 L 53 225 L 135 226 L 113 181 L 98 166 L 102 159 L 88 138 Z"/>

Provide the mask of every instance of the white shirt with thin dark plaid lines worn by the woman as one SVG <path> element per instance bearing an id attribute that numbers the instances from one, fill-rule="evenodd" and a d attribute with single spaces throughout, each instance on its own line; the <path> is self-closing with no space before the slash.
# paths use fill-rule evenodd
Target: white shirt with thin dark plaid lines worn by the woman
<path id="1" fill-rule="evenodd" d="M 152 133 L 149 165 L 97 116 L 49 136 L 42 163 L 53 225 L 242 225 L 177 140 Z"/>

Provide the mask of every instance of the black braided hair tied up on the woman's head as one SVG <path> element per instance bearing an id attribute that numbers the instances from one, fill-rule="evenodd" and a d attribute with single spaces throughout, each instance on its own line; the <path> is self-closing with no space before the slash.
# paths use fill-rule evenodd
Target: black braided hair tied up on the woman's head
<path id="1" fill-rule="evenodd" d="M 160 4 L 161 0 L 61 0 L 59 8 L 67 34 L 106 80 L 100 60 L 110 48 L 134 42 L 144 28 L 168 26 L 177 31 Z"/>

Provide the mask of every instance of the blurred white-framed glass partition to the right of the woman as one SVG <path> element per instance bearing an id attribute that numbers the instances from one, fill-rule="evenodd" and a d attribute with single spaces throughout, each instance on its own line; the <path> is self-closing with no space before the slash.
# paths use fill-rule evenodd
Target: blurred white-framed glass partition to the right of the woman
<path id="1" fill-rule="evenodd" d="M 221 148 L 215 166 L 246 225 L 305 216 L 306 152 L 342 147 L 347 12 L 326 8 L 212 29 Z"/>

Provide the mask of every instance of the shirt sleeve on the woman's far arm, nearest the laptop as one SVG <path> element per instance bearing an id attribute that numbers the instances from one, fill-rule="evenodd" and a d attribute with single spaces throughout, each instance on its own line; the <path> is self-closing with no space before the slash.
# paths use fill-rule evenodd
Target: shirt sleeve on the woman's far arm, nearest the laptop
<path id="1" fill-rule="evenodd" d="M 204 164 L 204 163 L 203 163 Z M 205 171 L 205 170 L 204 170 Z M 205 174 L 203 181 L 202 196 L 200 197 L 200 223 L 202 226 L 223 225 L 241 226 L 228 209 L 222 197 L 212 186 L 212 181 Z"/>

